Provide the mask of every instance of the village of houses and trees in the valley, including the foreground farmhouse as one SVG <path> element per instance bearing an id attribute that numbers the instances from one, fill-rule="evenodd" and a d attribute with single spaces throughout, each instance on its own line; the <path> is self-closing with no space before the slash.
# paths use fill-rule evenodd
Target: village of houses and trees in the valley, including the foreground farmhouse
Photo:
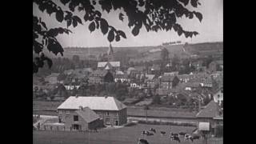
<path id="1" fill-rule="evenodd" d="M 167 125 L 192 126 L 184 129 L 186 133 L 198 134 L 198 122 L 210 122 L 210 137 L 222 138 L 222 54 L 170 58 L 165 46 L 149 50 L 148 54 L 158 54 L 155 61 L 116 61 L 118 52 L 110 45 L 102 58 L 90 55 L 94 58 L 90 65 L 70 70 L 59 66 L 58 73 L 46 76 L 39 72 L 33 85 L 34 130 L 94 134 L 130 125 L 149 129 Z M 72 60 L 81 63 L 78 55 Z"/>

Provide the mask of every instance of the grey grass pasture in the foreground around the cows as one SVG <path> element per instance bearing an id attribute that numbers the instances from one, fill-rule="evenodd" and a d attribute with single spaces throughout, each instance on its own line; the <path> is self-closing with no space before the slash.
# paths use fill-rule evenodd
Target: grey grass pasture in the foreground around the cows
<path id="1" fill-rule="evenodd" d="M 141 136 L 142 130 L 148 130 L 150 127 L 157 130 L 157 134 L 153 136 Z M 156 125 L 144 125 L 138 124 L 137 126 L 127 126 L 116 129 L 105 129 L 100 130 L 98 133 L 81 133 L 81 132 L 70 132 L 70 131 L 45 131 L 45 130 L 34 130 L 33 131 L 33 143 L 34 144 L 49 144 L 49 143 L 62 143 L 62 144 L 132 144 L 137 143 L 138 138 L 145 138 L 150 144 L 170 144 L 178 143 L 170 141 L 169 136 L 161 136 L 159 130 L 170 133 L 170 126 L 156 126 Z M 183 127 L 183 126 L 171 126 L 171 130 L 174 132 L 184 131 L 191 132 L 194 127 Z M 181 138 L 180 144 L 192 143 L 184 141 Z M 195 140 L 194 144 L 202 144 L 202 139 Z M 210 139 L 208 144 L 222 144 L 222 139 L 213 140 Z"/>

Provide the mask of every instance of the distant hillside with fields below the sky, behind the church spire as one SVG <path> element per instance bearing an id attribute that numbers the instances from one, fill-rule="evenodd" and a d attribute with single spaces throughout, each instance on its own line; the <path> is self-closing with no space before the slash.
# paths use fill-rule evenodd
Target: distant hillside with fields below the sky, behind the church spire
<path id="1" fill-rule="evenodd" d="M 129 58 L 133 58 L 134 61 L 149 61 L 160 58 L 160 51 L 165 47 L 169 50 L 170 57 L 177 54 L 180 58 L 188 58 L 191 55 L 198 55 L 198 57 L 206 57 L 208 55 L 215 55 L 216 57 L 222 57 L 223 42 L 205 42 L 188 44 L 169 45 L 169 46 L 134 46 L 134 47 L 114 47 L 115 53 L 125 53 Z M 185 47 L 186 52 L 184 52 Z M 73 55 L 79 55 L 81 59 L 88 59 L 89 55 L 94 55 L 96 58 L 100 54 L 106 54 L 108 46 L 106 47 L 67 47 L 64 48 L 64 57 L 72 58 Z M 50 54 L 50 57 L 54 56 Z M 59 56 L 58 56 L 59 57 Z"/>

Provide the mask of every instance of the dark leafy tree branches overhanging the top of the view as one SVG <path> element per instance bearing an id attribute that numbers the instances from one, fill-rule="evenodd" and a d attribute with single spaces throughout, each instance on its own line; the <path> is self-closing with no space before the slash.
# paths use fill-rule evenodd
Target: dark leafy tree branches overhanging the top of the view
<path id="1" fill-rule="evenodd" d="M 128 19 L 128 26 L 132 29 L 134 36 L 139 34 L 142 26 L 146 31 L 158 30 L 174 30 L 178 35 L 184 34 L 186 38 L 192 38 L 197 35 L 196 31 L 183 30 L 182 26 L 177 22 L 177 18 L 198 18 L 202 21 L 202 14 L 198 11 L 188 10 L 191 6 L 197 8 L 201 5 L 198 0 L 33 0 L 33 3 L 42 12 L 55 15 L 57 22 L 66 22 L 67 28 L 56 27 L 49 28 L 46 23 L 33 14 L 33 51 L 40 54 L 43 48 L 47 48 L 53 54 L 63 55 L 63 48 L 58 42 L 59 34 L 70 34 L 70 26 L 76 27 L 84 22 L 90 22 L 88 29 L 90 32 L 101 30 L 106 35 L 109 42 L 119 42 L 121 38 L 126 38 L 126 34 L 122 30 L 117 30 L 114 26 L 110 26 L 105 18 L 102 18 L 102 10 L 110 13 L 110 10 L 122 10 L 118 14 L 118 18 L 123 21 Z M 63 10 L 62 7 L 67 10 Z M 84 15 L 83 20 L 74 13 L 74 10 Z M 98 9 L 98 10 L 97 10 Z M 185 17 L 183 17 L 185 16 Z M 42 39 L 40 39 L 40 38 Z M 43 61 L 52 66 L 50 58 L 38 56 L 33 61 L 33 74 L 38 72 L 38 68 L 43 66 Z"/>

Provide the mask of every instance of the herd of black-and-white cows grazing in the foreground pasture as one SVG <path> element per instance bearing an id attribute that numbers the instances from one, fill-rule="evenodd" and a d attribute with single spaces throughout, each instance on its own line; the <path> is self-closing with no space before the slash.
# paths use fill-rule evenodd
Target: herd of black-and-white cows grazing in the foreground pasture
<path id="1" fill-rule="evenodd" d="M 157 131 L 153 128 L 150 128 L 150 130 L 143 130 L 142 131 L 143 136 L 145 136 L 145 135 L 150 136 L 150 135 L 154 135 L 156 133 L 157 133 Z M 160 134 L 162 136 L 164 136 L 164 135 L 166 135 L 166 131 L 160 131 Z M 190 140 L 191 142 L 194 142 L 195 139 L 201 138 L 201 135 L 199 135 L 199 134 L 187 134 L 187 133 L 182 132 L 182 131 L 180 131 L 178 133 L 170 132 L 170 140 L 181 142 L 180 138 L 184 138 L 185 141 Z M 149 142 L 147 142 L 146 139 L 138 138 L 138 144 L 149 144 Z"/>

